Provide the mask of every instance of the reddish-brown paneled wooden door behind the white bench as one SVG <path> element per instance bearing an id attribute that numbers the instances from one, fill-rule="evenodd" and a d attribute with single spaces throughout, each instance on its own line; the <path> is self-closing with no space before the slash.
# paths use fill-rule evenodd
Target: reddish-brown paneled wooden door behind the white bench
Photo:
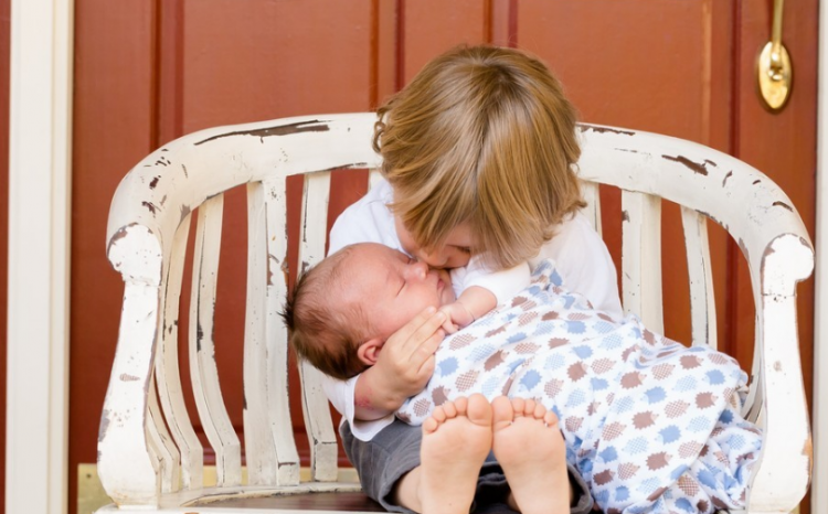
<path id="1" fill-rule="evenodd" d="M 763 170 L 813 233 L 817 0 L 786 6 L 796 86 L 776 115 L 754 92 L 754 58 L 769 34 L 769 2 L 740 0 L 76 0 L 71 508 L 77 464 L 96 459 L 123 291 L 105 258 L 106 216 L 117 182 L 138 159 L 205 127 L 368 110 L 444 50 L 491 42 L 541 56 L 586 121 L 687 138 Z M 360 196 L 364 179 L 361 172 L 335 178 L 332 215 Z M 298 186 L 289 185 L 295 214 Z M 617 264 L 619 200 L 608 191 L 603 196 L 605 239 Z M 241 427 L 246 270 L 234 248 L 246 244 L 244 194 L 225 202 L 216 358 L 227 410 Z M 683 242 L 671 207 L 665 206 L 662 237 L 666 332 L 688 341 Z M 290 222 L 295 229 L 298 215 Z M 750 281 L 737 246 L 722 231 L 711 238 L 719 339 L 750 368 Z M 810 388 L 813 281 L 799 292 Z M 187 340 L 184 329 L 180 339 Z M 302 433 L 298 405 L 294 419 Z"/>

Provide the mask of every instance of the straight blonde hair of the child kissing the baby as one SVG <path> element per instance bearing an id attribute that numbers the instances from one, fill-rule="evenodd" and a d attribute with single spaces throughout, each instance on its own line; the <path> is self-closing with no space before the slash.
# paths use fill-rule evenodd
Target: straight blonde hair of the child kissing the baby
<path id="1" fill-rule="evenodd" d="M 540 250 L 583 207 L 575 109 L 540 61 L 491 46 L 431 61 L 378 110 L 374 149 L 394 215 L 433 249 L 458 224 L 493 267 Z"/>

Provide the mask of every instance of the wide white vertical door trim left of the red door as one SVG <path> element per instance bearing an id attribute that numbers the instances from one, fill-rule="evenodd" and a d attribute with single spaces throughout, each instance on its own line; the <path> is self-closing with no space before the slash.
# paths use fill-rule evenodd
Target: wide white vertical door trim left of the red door
<path id="1" fill-rule="evenodd" d="M 12 0 L 6 512 L 64 513 L 74 0 Z"/>

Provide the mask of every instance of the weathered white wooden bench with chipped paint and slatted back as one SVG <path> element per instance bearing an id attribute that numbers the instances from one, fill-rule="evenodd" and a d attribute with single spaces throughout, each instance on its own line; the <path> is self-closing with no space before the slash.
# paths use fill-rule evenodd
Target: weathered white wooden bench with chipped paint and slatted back
<path id="1" fill-rule="evenodd" d="M 300 366 L 300 394 L 312 480 L 299 480 L 288 408 L 287 333 L 278 311 L 287 293 L 286 178 L 305 175 L 299 240 L 305 267 L 325 254 L 330 170 L 380 165 L 370 144 L 374 119 L 373 114 L 312 116 L 202 130 L 152 152 L 120 183 L 109 213 L 107 254 L 124 278 L 124 307 L 98 443 L 98 474 L 116 503 L 104 511 L 230 512 L 222 499 L 358 491 L 353 483 L 336 481 L 335 428 L 319 373 L 309 366 Z M 681 205 L 692 344 L 716 344 L 705 218 L 722 225 L 742 248 L 757 318 L 745 414 L 765 430 L 747 511 L 790 511 L 807 490 L 811 458 L 796 283 L 810 275 L 814 255 L 796 210 L 767 176 L 710 148 L 609 127 L 582 125 L 581 133 L 578 165 L 596 228 L 596 184 L 623 190 L 624 307 L 648 326 L 661 331 L 664 325 L 660 199 Z M 248 201 L 246 483 L 211 336 L 223 193 L 243 184 Z M 197 207 L 190 368 L 199 417 L 215 451 L 217 485 L 211 488 L 203 485 L 203 448 L 184 408 L 177 331 L 171 330 Z"/>

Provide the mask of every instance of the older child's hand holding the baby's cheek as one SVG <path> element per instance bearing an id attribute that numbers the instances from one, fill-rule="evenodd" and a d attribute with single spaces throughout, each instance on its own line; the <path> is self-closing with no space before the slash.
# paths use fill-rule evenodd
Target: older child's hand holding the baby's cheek
<path id="1" fill-rule="evenodd" d="M 385 341 L 376 364 L 357 379 L 357 419 L 380 419 L 423 390 L 434 374 L 434 353 L 446 335 L 440 328 L 445 322 L 445 313 L 428 308 Z"/>

